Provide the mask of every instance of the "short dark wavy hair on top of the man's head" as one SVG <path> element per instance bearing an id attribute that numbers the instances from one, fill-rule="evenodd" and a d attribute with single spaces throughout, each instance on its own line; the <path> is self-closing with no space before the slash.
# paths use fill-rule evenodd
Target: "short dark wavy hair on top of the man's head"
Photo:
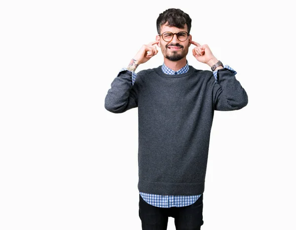
<path id="1" fill-rule="evenodd" d="M 191 18 L 181 9 L 170 8 L 159 14 L 156 20 L 156 28 L 158 34 L 160 34 L 161 26 L 166 24 L 166 22 L 168 22 L 168 26 L 174 26 L 179 29 L 184 28 L 184 25 L 186 24 L 188 28 L 188 33 L 190 33 Z"/>

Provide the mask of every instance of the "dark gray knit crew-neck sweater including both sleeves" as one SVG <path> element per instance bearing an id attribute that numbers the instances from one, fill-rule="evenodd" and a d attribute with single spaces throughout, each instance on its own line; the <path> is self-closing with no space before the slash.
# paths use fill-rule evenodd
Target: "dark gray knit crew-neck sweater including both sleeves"
<path id="1" fill-rule="evenodd" d="M 248 95 L 226 68 L 213 72 L 189 65 L 168 75 L 161 66 L 142 70 L 132 85 L 130 71 L 119 72 L 105 108 L 123 113 L 138 107 L 139 183 L 142 192 L 194 195 L 204 192 L 214 110 L 238 110 Z"/>

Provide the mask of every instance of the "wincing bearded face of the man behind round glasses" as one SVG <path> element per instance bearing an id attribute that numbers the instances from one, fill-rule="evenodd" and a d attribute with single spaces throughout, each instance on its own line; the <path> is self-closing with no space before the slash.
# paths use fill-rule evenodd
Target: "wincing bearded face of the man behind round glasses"
<path id="1" fill-rule="evenodd" d="M 185 24 L 184 29 L 179 29 L 177 27 L 169 27 L 166 23 L 165 25 L 162 25 L 160 34 L 164 32 L 179 33 L 180 31 L 188 32 L 187 25 Z M 157 46 L 161 47 L 161 52 L 165 58 L 169 59 L 170 61 L 179 61 L 184 57 L 186 58 L 188 48 L 190 46 L 189 41 L 191 41 L 191 35 L 189 35 L 187 40 L 184 42 L 180 42 L 177 38 L 177 35 L 174 35 L 170 42 L 164 41 L 161 36 L 157 35 L 156 41 L 159 40 L 160 42 L 157 44 Z"/>

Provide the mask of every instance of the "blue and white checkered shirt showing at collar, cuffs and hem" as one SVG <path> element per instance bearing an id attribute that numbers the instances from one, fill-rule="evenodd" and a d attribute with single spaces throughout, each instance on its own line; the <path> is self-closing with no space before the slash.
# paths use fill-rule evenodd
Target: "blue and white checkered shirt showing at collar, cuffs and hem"
<path id="1" fill-rule="evenodd" d="M 223 65 L 224 68 L 234 71 L 234 74 L 236 74 L 236 71 L 228 65 Z M 119 72 L 127 70 L 126 68 L 122 68 Z M 172 70 L 169 67 L 167 67 L 164 62 L 161 66 L 162 72 L 165 74 L 184 74 L 189 70 L 188 61 L 186 60 L 186 65 L 182 67 L 180 70 Z M 217 81 L 217 72 L 218 70 L 215 70 L 213 72 L 214 77 Z M 132 85 L 134 85 L 134 82 L 136 80 L 137 74 L 135 72 L 132 72 Z M 142 198 L 150 205 L 160 207 L 160 208 L 170 208 L 170 207 L 184 207 L 193 204 L 200 196 L 199 195 L 159 195 L 159 194 L 149 194 L 145 192 L 140 192 L 140 195 Z"/>

